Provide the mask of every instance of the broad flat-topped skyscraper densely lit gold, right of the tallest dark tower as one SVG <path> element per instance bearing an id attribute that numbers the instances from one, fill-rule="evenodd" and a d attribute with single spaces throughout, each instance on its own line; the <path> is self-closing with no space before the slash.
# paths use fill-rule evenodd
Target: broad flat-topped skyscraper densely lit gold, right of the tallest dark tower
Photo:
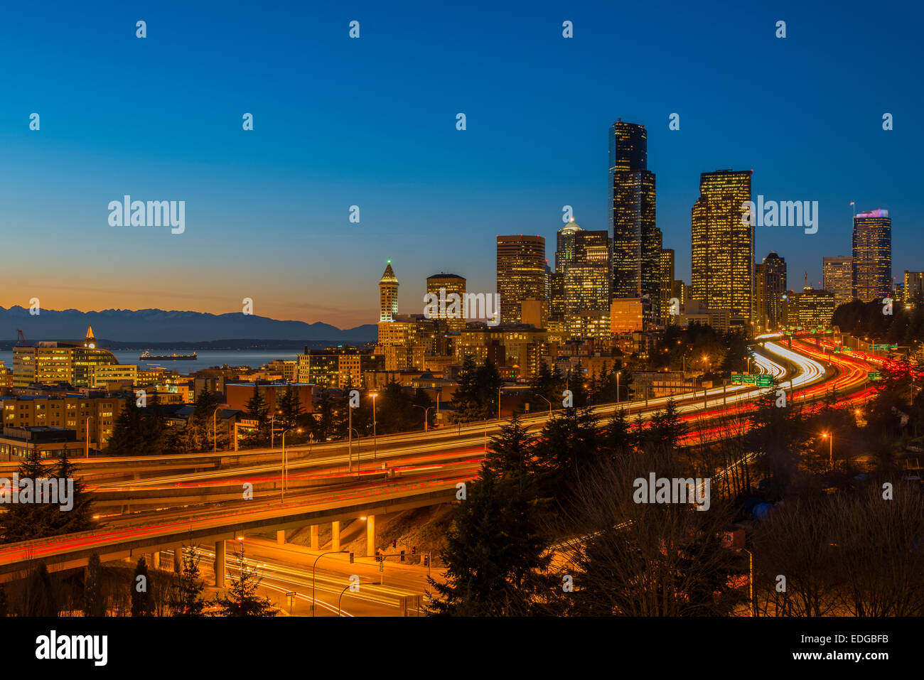
<path id="1" fill-rule="evenodd" d="M 750 322 L 753 312 L 750 180 L 749 170 L 702 173 L 692 210 L 692 297 L 711 310 L 729 310 L 734 326 Z"/>

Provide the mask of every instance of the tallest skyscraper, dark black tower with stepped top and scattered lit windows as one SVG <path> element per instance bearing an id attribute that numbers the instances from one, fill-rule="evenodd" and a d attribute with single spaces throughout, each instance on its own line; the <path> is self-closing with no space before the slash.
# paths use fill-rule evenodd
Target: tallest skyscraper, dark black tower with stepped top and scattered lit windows
<path id="1" fill-rule="evenodd" d="M 611 297 L 648 297 L 646 323 L 660 321 L 661 232 L 655 225 L 655 178 L 648 132 L 617 120 L 610 127 Z"/>

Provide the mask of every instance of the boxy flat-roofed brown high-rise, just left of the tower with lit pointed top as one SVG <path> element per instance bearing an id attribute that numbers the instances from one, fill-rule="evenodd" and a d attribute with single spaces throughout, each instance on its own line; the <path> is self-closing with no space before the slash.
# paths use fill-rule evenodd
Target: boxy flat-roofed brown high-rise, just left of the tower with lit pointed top
<path id="1" fill-rule="evenodd" d="M 520 304 L 545 299 L 545 238 L 497 237 L 497 292 L 501 323 L 520 322 Z"/>

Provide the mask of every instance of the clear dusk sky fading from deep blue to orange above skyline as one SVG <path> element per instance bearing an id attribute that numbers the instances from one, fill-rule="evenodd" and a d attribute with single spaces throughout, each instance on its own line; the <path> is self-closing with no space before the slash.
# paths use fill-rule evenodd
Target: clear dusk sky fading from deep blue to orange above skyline
<path id="1" fill-rule="evenodd" d="M 851 200 L 889 210 L 894 276 L 924 269 L 920 6 L 340 5 L 0 10 L 0 306 L 223 313 L 249 297 L 346 328 L 378 321 L 386 260 L 402 313 L 422 312 L 432 273 L 493 292 L 496 235 L 541 235 L 553 262 L 563 206 L 607 228 L 617 118 L 648 129 L 687 283 L 699 173 L 720 168 L 753 169 L 755 200 L 819 201 L 816 234 L 757 227 L 758 261 L 778 251 L 791 288 L 850 254 Z M 126 194 L 185 200 L 185 231 L 110 225 Z"/>

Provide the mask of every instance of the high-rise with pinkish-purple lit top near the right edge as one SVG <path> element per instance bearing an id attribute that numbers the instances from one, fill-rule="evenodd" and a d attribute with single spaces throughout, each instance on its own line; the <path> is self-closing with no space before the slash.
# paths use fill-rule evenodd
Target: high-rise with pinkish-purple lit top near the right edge
<path id="1" fill-rule="evenodd" d="M 854 217 L 853 297 L 863 302 L 892 292 L 892 219 L 887 210 Z"/>

